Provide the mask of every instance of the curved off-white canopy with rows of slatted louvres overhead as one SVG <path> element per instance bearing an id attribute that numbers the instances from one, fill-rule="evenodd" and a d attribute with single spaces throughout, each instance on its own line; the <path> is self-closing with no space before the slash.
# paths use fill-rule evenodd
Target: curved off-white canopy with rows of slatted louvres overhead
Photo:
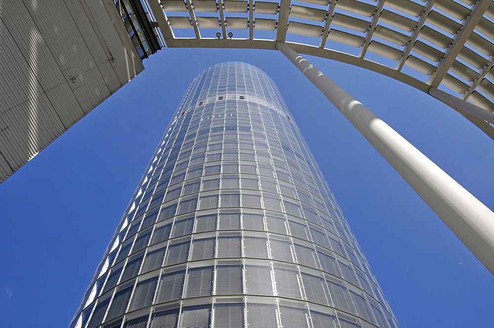
<path id="1" fill-rule="evenodd" d="M 148 2 L 168 47 L 276 50 L 286 42 L 429 93 L 494 139 L 493 0 Z"/>

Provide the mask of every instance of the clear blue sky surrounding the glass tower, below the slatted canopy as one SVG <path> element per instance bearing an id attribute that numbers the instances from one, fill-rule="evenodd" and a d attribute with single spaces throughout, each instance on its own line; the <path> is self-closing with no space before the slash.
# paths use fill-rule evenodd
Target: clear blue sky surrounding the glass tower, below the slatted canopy
<path id="1" fill-rule="evenodd" d="M 391 78 L 308 59 L 494 209 L 480 129 Z M 281 53 L 164 49 L 0 184 L 0 328 L 69 325 L 187 86 L 233 60 L 277 83 L 401 327 L 492 327 L 494 277 Z"/>

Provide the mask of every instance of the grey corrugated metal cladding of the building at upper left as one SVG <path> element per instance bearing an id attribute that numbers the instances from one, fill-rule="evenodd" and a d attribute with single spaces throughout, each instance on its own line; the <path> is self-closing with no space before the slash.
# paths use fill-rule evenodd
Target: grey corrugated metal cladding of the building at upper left
<path id="1" fill-rule="evenodd" d="M 0 1 L 0 182 L 144 67 L 113 0 Z"/>

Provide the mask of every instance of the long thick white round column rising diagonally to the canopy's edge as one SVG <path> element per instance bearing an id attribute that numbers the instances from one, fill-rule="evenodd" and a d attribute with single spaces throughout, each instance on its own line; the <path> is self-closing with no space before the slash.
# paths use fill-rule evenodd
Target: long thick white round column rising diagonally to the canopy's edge
<path id="1" fill-rule="evenodd" d="M 494 213 L 284 42 L 276 47 L 329 99 L 494 274 Z"/>

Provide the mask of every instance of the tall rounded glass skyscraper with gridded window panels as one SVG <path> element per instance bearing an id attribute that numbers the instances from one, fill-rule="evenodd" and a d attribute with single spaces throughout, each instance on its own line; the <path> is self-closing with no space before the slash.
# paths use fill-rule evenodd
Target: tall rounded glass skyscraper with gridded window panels
<path id="1" fill-rule="evenodd" d="M 396 328 L 265 73 L 192 82 L 70 328 Z"/>

